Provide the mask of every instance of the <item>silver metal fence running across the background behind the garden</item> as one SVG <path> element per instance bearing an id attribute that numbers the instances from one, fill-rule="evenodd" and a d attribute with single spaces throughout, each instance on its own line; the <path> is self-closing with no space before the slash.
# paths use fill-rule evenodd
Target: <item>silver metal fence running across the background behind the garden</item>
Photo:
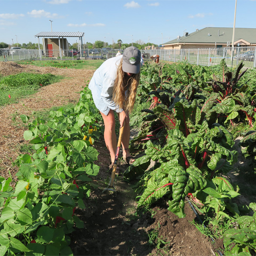
<path id="1" fill-rule="evenodd" d="M 106 60 L 115 57 L 117 52 L 123 50 L 113 49 L 83 49 L 82 52 L 72 50 L 6 50 L 0 49 L 0 61 L 18 60 Z M 226 59 L 228 66 L 236 66 L 243 60 L 244 68 L 256 67 L 256 47 L 231 47 L 207 48 L 207 49 L 180 49 L 180 50 L 142 50 L 145 60 L 152 55 L 159 55 L 160 60 L 188 61 L 191 64 L 213 66 Z"/>

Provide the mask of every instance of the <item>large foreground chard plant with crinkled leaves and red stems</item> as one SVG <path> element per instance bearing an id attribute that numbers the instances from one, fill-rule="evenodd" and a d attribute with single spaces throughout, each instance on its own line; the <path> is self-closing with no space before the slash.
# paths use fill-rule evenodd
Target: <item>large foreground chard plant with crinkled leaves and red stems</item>
<path id="1" fill-rule="evenodd" d="M 146 171 L 150 160 L 158 162 L 154 170 L 146 173 L 147 187 L 139 206 L 170 194 L 169 210 L 184 217 L 186 195 L 202 190 L 207 179 L 217 173 L 227 173 L 237 161 L 237 152 L 231 150 L 234 140 L 225 127 L 209 126 L 206 120 L 201 122 L 196 100 L 192 103 L 180 100 L 174 109 L 159 105 L 150 114 L 154 114 L 154 121 L 146 119 L 151 124 L 147 131 L 154 130 L 148 137 L 145 155 L 137 159 L 125 175 L 130 179 L 138 177 Z"/>

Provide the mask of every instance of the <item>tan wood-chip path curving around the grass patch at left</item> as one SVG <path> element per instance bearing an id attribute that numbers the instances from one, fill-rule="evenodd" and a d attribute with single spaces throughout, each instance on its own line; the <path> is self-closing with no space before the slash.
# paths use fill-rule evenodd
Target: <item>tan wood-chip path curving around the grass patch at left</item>
<path id="1" fill-rule="evenodd" d="M 92 77 L 94 70 L 62 69 L 53 67 L 36 67 L 33 65 L 18 65 L 15 62 L 0 62 L 0 74 L 11 75 L 21 72 L 51 73 L 65 76 L 60 82 L 42 87 L 29 98 L 21 99 L 19 103 L 0 107 L 0 171 L 3 177 L 9 177 L 16 172 L 12 161 L 20 153 L 19 146 L 24 143 L 22 127 L 19 116 L 31 116 L 33 111 L 42 111 L 54 106 L 76 103 L 87 81 Z M 17 126 L 17 122 L 20 124 Z M 15 176 L 13 176 L 15 178 Z"/>

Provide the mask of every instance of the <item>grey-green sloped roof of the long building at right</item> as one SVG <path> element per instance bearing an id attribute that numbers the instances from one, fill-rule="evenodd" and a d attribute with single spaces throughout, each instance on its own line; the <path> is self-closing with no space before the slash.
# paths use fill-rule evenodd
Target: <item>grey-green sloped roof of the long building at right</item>
<path id="1" fill-rule="evenodd" d="M 185 33 L 186 34 L 186 33 Z M 179 36 L 172 41 L 166 42 L 164 45 L 179 43 L 197 43 L 197 44 L 229 44 L 232 43 L 233 28 L 203 28 L 193 33 Z M 256 28 L 235 28 L 234 42 L 245 40 L 250 44 L 256 43 Z"/>

